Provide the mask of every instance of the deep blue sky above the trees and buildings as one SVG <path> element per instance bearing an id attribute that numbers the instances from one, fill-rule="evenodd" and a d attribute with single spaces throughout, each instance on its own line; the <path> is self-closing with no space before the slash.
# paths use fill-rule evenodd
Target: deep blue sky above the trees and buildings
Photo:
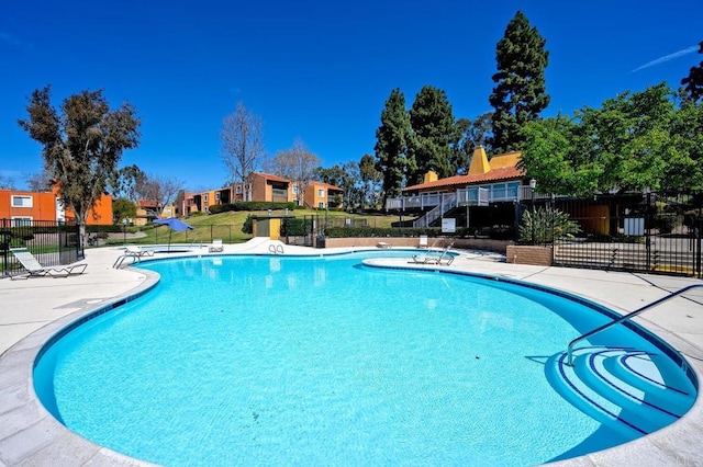
<path id="1" fill-rule="evenodd" d="M 323 167 L 373 153 L 393 88 L 410 106 L 443 89 L 455 117 L 490 111 L 495 44 L 522 10 L 547 39 L 544 116 L 599 106 L 626 90 L 677 88 L 703 59 L 703 1 L 3 1 L 0 173 L 23 187 L 41 147 L 16 124 L 51 84 L 54 104 L 104 89 L 129 101 L 136 163 L 186 187 L 219 187 L 222 119 L 243 102 L 264 119 L 267 151 L 304 141 Z"/>

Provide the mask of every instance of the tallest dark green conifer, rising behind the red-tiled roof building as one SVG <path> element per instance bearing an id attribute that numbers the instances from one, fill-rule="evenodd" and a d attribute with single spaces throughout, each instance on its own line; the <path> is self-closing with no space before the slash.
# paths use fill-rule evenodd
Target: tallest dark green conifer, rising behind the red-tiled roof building
<path id="1" fill-rule="evenodd" d="M 493 75 L 495 88 L 489 98 L 494 112 L 491 117 L 495 152 L 521 150 L 521 128 L 537 119 L 549 105 L 545 69 L 549 62 L 546 41 L 517 11 L 505 29 L 495 48 L 498 72 Z"/>

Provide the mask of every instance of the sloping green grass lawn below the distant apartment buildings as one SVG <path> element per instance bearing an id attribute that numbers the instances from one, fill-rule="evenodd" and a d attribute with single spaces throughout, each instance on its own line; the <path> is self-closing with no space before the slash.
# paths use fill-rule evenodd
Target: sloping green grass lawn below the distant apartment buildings
<path id="1" fill-rule="evenodd" d="M 211 214 L 211 215 L 200 215 L 200 216 L 191 216 L 185 218 L 187 224 L 193 226 L 196 230 L 188 230 L 183 232 L 170 232 L 168 227 L 158 227 L 158 228 L 144 228 L 142 232 L 146 234 L 146 237 L 131 239 L 130 243 L 167 243 L 169 234 L 171 235 L 172 243 L 209 243 L 213 238 L 220 238 L 225 243 L 243 243 L 249 239 L 252 236 L 248 234 L 244 234 L 242 231 L 242 226 L 246 220 L 247 216 L 256 215 L 256 216 L 267 216 L 268 210 L 259 210 L 259 212 L 227 212 L 221 214 Z M 282 215 L 283 210 L 274 210 L 272 215 Z M 311 216 L 320 216 L 320 219 L 324 223 L 325 216 L 332 223 L 334 219 L 339 219 L 337 223 L 343 223 L 343 219 L 353 219 L 359 220 L 365 219 L 369 227 L 378 227 L 378 228 L 390 228 L 392 223 L 399 220 L 397 215 L 388 216 L 388 215 L 364 215 L 364 214 L 349 214 L 337 210 L 330 210 L 325 213 L 324 210 L 314 210 L 314 209 L 294 209 L 289 210 L 289 214 L 297 217 L 311 217 Z M 113 239 L 108 240 L 108 244 L 122 244 L 123 239 Z"/>

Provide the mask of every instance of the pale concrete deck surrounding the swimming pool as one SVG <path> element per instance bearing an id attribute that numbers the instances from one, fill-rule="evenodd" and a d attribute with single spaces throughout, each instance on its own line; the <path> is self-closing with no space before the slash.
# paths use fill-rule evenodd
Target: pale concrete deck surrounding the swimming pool
<path id="1" fill-rule="evenodd" d="M 225 244 L 223 253 L 269 254 L 268 239 Z M 284 254 L 322 254 L 349 249 L 316 250 L 284 246 Z M 449 266 L 414 265 L 401 259 L 378 259 L 379 265 L 469 271 L 559 288 L 618 312 L 635 310 L 700 280 L 651 274 L 506 264 L 500 255 L 457 250 Z M 120 248 L 86 251 L 85 274 L 66 278 L 0 280 L 0 467 L 145 466 L 68 431 L 43 408 L 32 389 L 34 358 L 47 339 L 68 322 L 105 305 L 147 289 L 158 277 L 135 269 L 115 270 Z M 157 253 L 175 258 L 180 253 Z M 192 255 L 192 253 L 190 253 Z M 703 288 L 666 301 L 634 319 L 683 354 L 703 375 Z M 567 342 L 565 342 L 566 349 Z M 553 465 L 559 466 L 703 466 L 703 398 L 677 423 L 634 442 Z"/>

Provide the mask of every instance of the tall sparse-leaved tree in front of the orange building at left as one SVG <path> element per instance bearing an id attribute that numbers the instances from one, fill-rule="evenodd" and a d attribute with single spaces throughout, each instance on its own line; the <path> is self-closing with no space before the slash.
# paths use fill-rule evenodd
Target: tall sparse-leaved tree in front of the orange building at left
<path id="1" fill-rule="evenodd" d="M 81 244 L 89 210 L 105 192 L 125 149 L 140 143 L 140 119 L 124 103 L 111 111 L 100 91 L 81 91 L 64 100 L 59 112 L 52 106 L 51 89 L 35 90 L 20 126 L 43 146 L 48 172 L 59 183 L 65 206 L 76 213 Z"/>

